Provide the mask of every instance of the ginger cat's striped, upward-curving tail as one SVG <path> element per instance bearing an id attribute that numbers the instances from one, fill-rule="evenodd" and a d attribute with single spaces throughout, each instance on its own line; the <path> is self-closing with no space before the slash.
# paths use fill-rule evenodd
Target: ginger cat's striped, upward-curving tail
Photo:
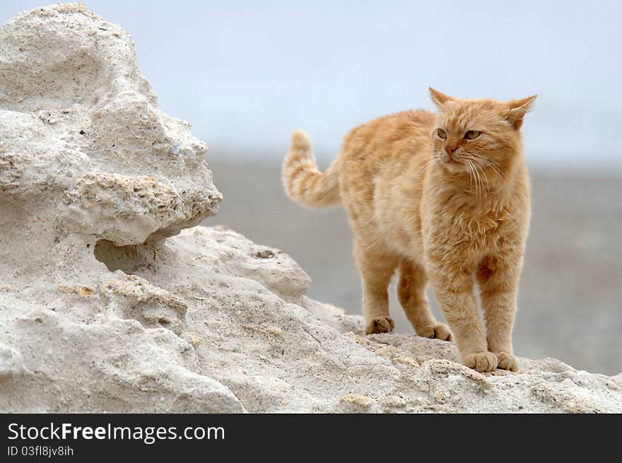
<path id="1" fill-rule="evenodd" d="M 288 197 L 303 206 L 328 207 L 339 198 L 339 158 L 326 172 L 319 172 L 307 132 L 295 130 L 291 147 L 283 162 L 281 180 Z"/>

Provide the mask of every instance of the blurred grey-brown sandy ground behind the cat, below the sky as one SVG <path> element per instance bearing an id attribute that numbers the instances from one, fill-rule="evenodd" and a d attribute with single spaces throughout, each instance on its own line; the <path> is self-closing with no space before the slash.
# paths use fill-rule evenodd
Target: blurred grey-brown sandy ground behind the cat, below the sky
<path id="1" fill-rule="evenodd" d="M 210 153 L 211 154 L 211 153 Z M 309 295 L 360 313 L 360 280 L 341 208 L 309 210 L 283 194 L 280 165 L 209 161 L 225 199 L 223 224 L 291 254 L 313 279 Z M 622 175 L 532 172 L 533 215 L 515 352 L 556 357 L 594 373 L 622 371 Z M 413 333 L 391 291 L 398 332 Z M 442 319 L 433 296 L 433 311 Z"/>

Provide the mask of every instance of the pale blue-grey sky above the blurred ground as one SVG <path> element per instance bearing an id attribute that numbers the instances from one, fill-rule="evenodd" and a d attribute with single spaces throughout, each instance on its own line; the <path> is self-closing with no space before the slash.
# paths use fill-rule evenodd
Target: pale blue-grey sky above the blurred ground
<path id="1" fill-rule="evenodd" d="M 0 20 L 46 3 L 4 0 Z M 278 160 L 300 127 L 333 158 L 361 122 L 432 110 L 433 86 L 538 93 L 531 163 L 622 168 L 619 1 L 84 3 L 134 37 L 161 107 L 192 122 L 209 156 Z"/>

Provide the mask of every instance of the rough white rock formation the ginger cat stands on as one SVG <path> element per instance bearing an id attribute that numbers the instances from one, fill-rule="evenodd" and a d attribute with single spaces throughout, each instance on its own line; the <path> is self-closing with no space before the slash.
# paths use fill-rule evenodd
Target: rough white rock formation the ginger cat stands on
<path id="1" fill-rule="evenodd" d="M 622 411 L 621 375 L 362 336 L 288 255 L 190 228 L 221 200 L 205 151 L 119 26 L 63 4 L 0 30 L 1 412 Z"/>

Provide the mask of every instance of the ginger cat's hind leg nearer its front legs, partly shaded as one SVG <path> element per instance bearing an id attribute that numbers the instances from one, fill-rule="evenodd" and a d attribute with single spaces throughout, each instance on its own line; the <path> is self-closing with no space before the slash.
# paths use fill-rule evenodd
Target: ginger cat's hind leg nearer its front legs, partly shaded
<path id="1" fill-rule="evenodd" d="M 397 297 L 406 313 L 406 318 L 409 319 L 418 336 L 451 341 L 450 329 L 445 324 L 437 322 L 430 312 L 430 304 L 426 295 L 427 286 L 428 275 L 423 266 L 402 259 L 399 263 Z"/>

